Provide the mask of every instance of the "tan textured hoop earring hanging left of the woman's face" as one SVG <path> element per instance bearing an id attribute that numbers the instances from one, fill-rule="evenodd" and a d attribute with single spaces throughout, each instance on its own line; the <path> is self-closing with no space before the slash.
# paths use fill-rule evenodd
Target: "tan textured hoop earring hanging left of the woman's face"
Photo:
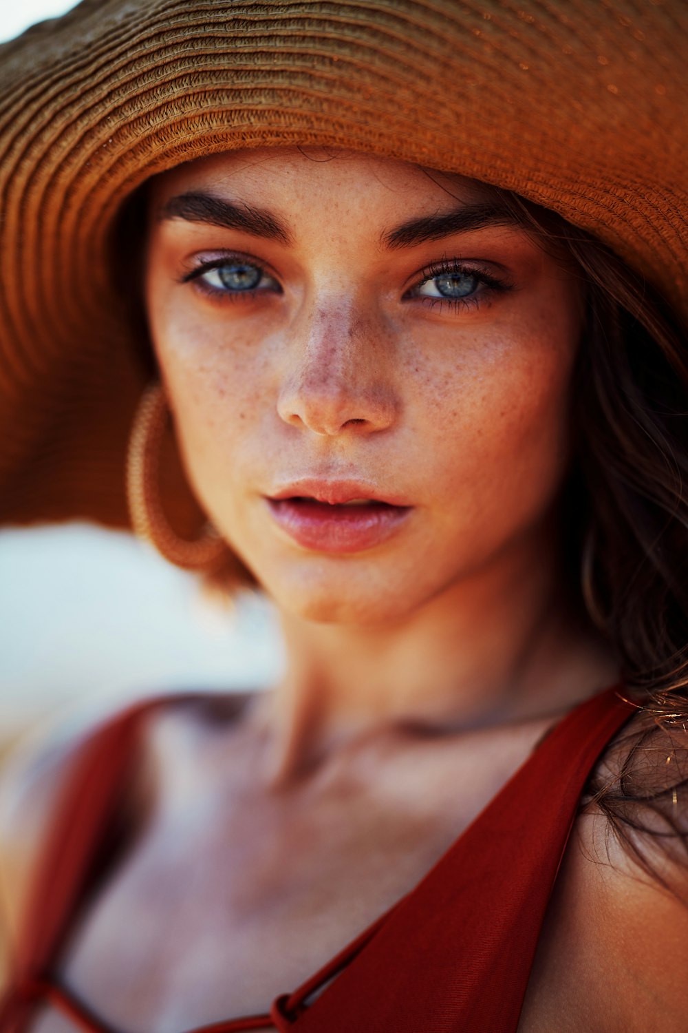
<path id="1" fill-rule="evenodd" d="M 169 409 L 162 384 L 151 384 L 138 404 L 127 452 L 127 499 L 134 533 L 166 560 L 185 570 L 214 571 L 228 558 L 227 545 L 211 524 L 195 541 L 181 538 L 163 512 L 158 465 Z"/>

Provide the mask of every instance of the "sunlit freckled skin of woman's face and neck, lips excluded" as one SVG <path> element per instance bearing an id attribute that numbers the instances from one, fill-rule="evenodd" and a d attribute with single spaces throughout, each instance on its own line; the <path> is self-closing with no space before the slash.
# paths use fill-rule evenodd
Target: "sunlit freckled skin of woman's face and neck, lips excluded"
<path id="1" fill-rule="evenodd" d="M 170 217 L 189 194 L 266 210 L 288 239 Z M 318 152 L 222 155 L 155 185 L 153 339 L 196 493 L 284 614 L 276 706 L 297 754 L 305 726 L 313 739 L 345 718 L 548 714 L 598 687 L 552 519 L 580 283 L 513 225 L 386 244 L 486 196 Z M 207 268 L 227 276 L 237 260 L 255 290 L 232 293 Z M 462 270 L 465 298 L 439 294 L 443 267 Z M 304 549 L 265 499 L 303 477 L 353 478 L 413 508 L 375 547 Z"/>

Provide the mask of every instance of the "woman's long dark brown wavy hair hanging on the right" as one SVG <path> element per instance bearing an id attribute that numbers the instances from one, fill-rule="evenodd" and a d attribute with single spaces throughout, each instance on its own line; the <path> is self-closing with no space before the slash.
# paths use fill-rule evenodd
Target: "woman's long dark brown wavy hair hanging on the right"
<path id="1" fill-rule="evenodd" d="M 584 795 L 641 867 L 688 860 L 688 352 L 661 294 L 609 248 L 499 191 L 540 247 L 578 271 L 569 550 L 590 619 L 641 705 Z"/>

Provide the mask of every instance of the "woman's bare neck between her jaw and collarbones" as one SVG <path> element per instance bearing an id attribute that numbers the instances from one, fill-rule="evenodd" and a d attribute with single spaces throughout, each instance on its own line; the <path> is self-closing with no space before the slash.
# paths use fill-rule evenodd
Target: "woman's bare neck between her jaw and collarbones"
<path id="1" fill-rule="evenodd" d="M 611 684 L 609 647 L 562 591 L 554 542 L 504 551 L 403 621 L 315 624 L 282 615 L 287 671 L 265 699 L 273 777 L 342 743 L 540 719 Z"/>

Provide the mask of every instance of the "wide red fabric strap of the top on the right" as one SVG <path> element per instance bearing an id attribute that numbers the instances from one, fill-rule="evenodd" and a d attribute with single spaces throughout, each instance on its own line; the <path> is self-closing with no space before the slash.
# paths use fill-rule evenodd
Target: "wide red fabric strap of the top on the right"
<path id="1" fill-rule="evenodd" d="M 515 1033 L 588 776 L 636 708 L 618 688 L 561 721 L 382 924 L 280 1010 L 299 1033 Z M 332 969 L 332 970 L 330 970 Z"/>

